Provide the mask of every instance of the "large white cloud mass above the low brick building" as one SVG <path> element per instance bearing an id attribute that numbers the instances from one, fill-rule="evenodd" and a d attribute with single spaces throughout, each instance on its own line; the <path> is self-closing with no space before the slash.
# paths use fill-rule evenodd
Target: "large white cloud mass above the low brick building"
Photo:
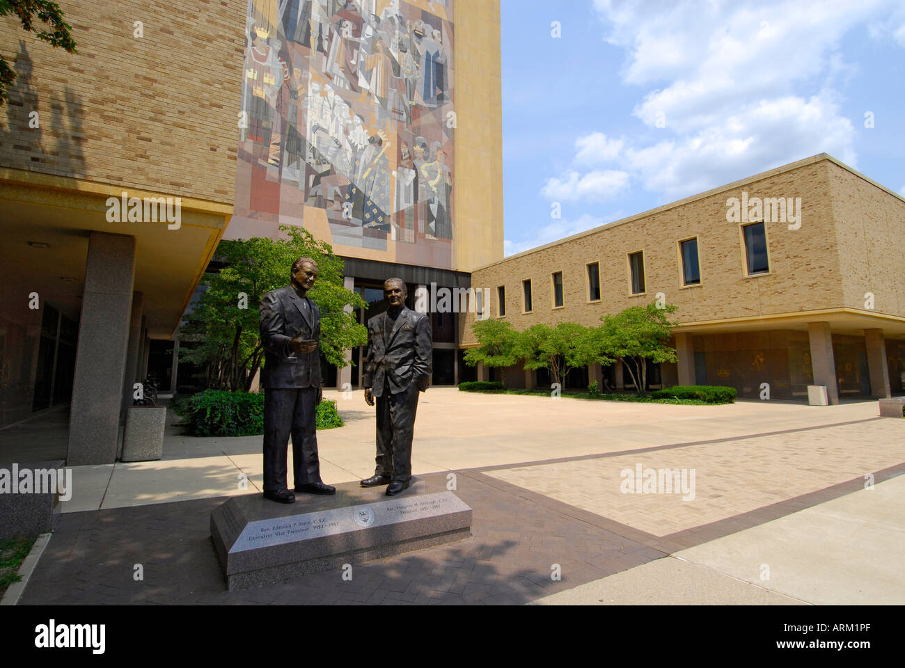
<path id="1" fill-rule="evenodd" d="M 594 6 L 606 41 L 626 52 L 624 84 L 647 89 L 633 113 L 648 130 L 579 138 L 571 169 L 543 188 L 548 199 L 604 201 L 630 181 L 677 199 L 823 152 L 856 166 L 855 127 L 833 87 L 853 72 L 839 44 L 893 0 Z M 905 26 L 895 35 L 905 40 Z"/>

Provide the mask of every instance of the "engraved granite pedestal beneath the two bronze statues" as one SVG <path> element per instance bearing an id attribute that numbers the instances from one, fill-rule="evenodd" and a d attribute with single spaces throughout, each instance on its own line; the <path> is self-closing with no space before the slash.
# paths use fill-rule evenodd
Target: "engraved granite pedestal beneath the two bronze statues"
<path id="1" fill-rule="evenodd" d="M 211 539 L 227 587 L 283 582 L 471 536 L 472 509 L 442 484 L 385 492 L 347 482 L 336 496 L 297 493 L 290 505 L 262 494 L 226 501 L 211 513 Z"/>

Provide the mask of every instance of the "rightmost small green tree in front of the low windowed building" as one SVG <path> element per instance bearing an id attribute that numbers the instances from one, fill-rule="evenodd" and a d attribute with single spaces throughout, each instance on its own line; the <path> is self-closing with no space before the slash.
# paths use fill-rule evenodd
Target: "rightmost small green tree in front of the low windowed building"
<path id="1" fill-rule="evenodd" d="M 638 389 L 647 393 L 647 360 L 653 363 L 675 362 L 675 348 L 666 345 L 672 327 L 669 314 L 677 307 L 667 305 L 658 308 L 656 303 L 633 306 L 615 315 L 606 315 L 601 329 L 602 348 L 606 354 L 626 362 L 625 368 Z"/>

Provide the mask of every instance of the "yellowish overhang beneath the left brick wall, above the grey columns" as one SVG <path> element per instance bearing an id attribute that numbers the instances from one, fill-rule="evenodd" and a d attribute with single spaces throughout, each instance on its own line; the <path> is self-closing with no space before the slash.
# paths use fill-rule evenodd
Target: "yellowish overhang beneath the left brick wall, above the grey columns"
<path id="1" fill-rule="evenodd" d="M 136 239 L 134 291 L 144 295 L 148 335 L 169 339 L 233 214 L 232 205 L 179 197 L 179 221 L 110 220 L 110 198 L 172 197 L 127 186 L 0 168 L 0 282 L 37 292 L 71 318 L 81 312 L 91 232 Z M 119 208 L 119 206 L 118 206 Z M 172 209 L 171 209 L 172 213 Z M 144 216 L 143 216 L 144 217 Z M 126 216 L 128 218 L 128 216 Z M 25 299 L 25 296 L 23 296 Z"/>

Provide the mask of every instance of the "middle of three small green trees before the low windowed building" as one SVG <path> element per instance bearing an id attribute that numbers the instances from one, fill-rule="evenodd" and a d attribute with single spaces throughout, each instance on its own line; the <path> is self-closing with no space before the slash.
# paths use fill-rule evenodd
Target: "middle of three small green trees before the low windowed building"
<path id="1" fill-rule="evenodd" d="M 570 370 L 597 359 L 594 345 L 587 328 L 575 322 L 560 322 L 556 327 L 539 324 L 521 332 L 518 355 L 525 360 L 525 368 L 548 368 L 552 382 L 561 387 Z M 606 359 L 599 350 L 599 358 Z"/>

